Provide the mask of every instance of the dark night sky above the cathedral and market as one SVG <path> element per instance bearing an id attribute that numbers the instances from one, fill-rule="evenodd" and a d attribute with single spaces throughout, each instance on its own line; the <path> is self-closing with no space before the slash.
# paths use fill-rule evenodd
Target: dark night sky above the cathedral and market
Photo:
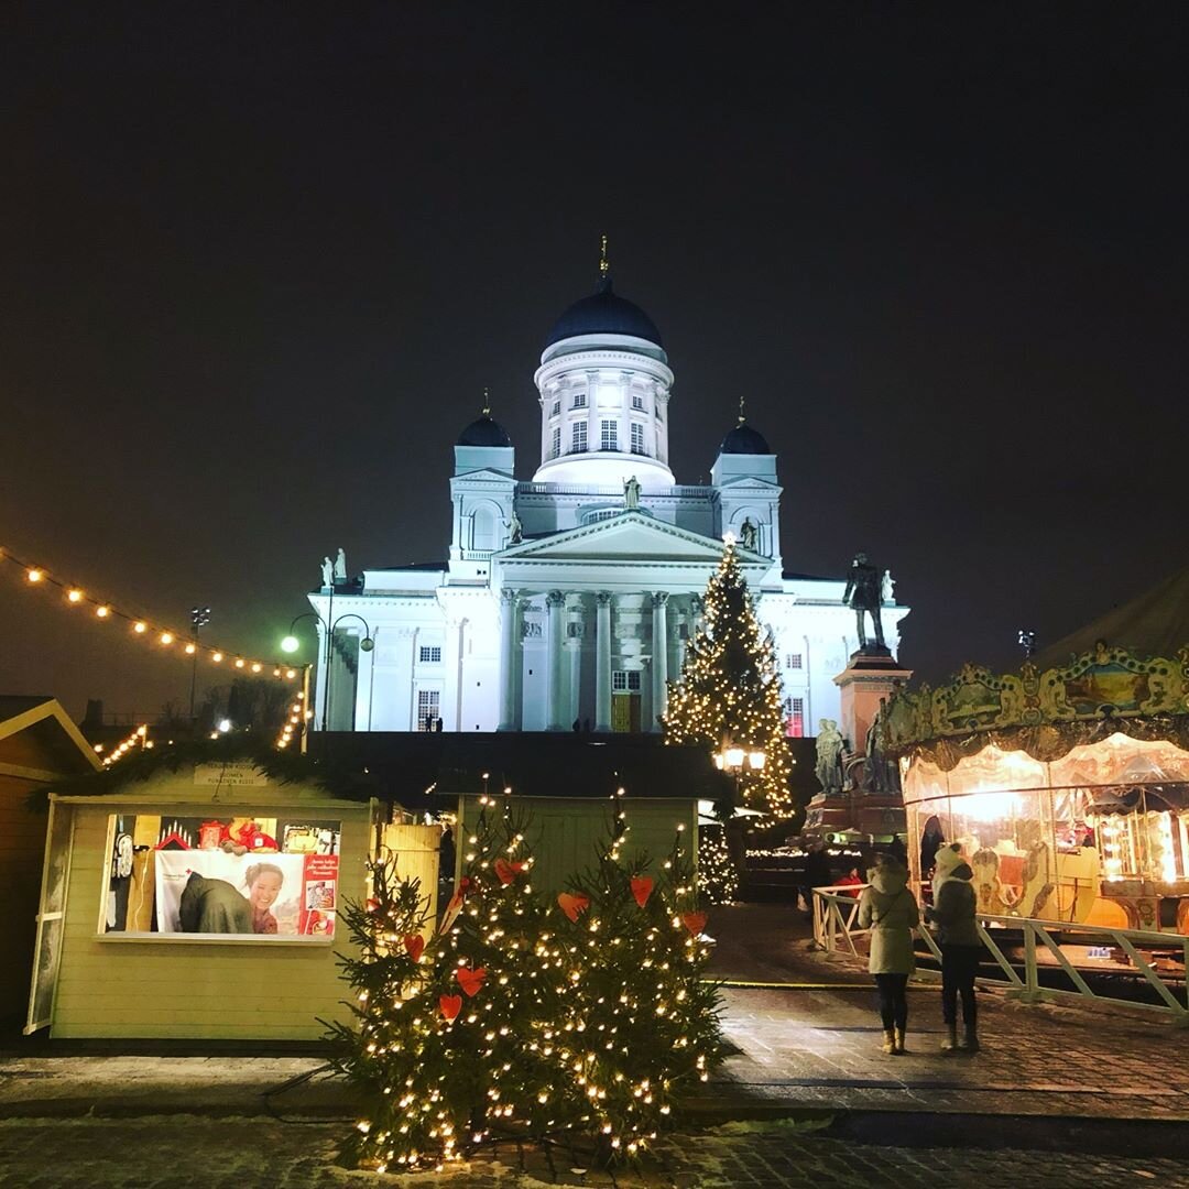
<path id="1" fill-rule="evenodd" d="M 785 566 L 857 548 L 930 679 L 1187 560 L 1183 5 L 10 4 L 0 545 L 278 655 L 317 562 L 433 561 L 490 386 L 616 289 L 709 478 L 741 396 Z M 185 700 L 0 566 L 0 692 Z M 87 622 L 82 622 L 87 619 Z"/>

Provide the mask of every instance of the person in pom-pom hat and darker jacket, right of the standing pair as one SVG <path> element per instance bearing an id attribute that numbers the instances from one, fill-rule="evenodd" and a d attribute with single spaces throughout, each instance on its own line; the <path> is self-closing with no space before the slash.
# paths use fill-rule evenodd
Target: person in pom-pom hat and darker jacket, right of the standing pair
<path id="1" fill-rule="evenodd" d="M 933 874 L 933 906 L 925 919 L 936 926 L 942 950 L 942 1014 L 945 1019 L 945 1050 L 979 1050 L 977 1005 L 974 980 L 982 957 L 982 938 L 975 919 L 974 872 L 962 857 L 957 843 L 937 851 Z M 964 1036 L 958 1039 L 958 998 L 962 999 Z"/>

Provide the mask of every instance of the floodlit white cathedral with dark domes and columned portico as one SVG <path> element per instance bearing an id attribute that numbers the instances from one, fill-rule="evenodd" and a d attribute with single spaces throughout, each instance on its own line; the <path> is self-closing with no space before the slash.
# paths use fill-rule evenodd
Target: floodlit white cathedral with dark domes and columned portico
<path id="1" fill-rule="evenodd" d="M 534 379 L 531 480 L 516 478 L 490 410 L 459 435 L 448 561 L 340 573 L 309 596 L 315 726 L 659 731 L 726 534 L 775 636 L 788 734 L 837 719 L 833 678 L 858 647 L 844 579 L 784 570 L 776 457 L 742 415 L 710 484 L 677 482 L 668 357 L 605 264 L 549 332 Z M 893 654 L 907 614 L 883 606 Z"/>

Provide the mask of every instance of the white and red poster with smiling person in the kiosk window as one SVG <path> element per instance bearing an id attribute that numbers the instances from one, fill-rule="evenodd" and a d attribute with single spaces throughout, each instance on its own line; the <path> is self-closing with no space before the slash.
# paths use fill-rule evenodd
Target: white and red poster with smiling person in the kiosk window
<path id="1" fill-rule="evenodd" d="M 338 855 L 159 850 L 157 931 L 333 937 Z"/>

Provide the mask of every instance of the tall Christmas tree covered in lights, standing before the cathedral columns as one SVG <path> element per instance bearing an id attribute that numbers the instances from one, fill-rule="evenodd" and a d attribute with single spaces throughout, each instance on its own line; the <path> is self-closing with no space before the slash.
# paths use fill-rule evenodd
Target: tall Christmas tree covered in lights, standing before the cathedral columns
<path id="1" fill-rule="evenodd" d="M 678 681 L 669 684 L 663 716 L 667 743 L 700 743 L 719 751 L 724 742 L 762 750 L 759 772 L 740 773 L 744 805 L 789 817 L 793 759 L 785 734 L 784 699 L 772 633 L 763 631 L 735 542 L 728 539 L 718 571 L 704 597 L 704 619 L 685 655 Z"/>

